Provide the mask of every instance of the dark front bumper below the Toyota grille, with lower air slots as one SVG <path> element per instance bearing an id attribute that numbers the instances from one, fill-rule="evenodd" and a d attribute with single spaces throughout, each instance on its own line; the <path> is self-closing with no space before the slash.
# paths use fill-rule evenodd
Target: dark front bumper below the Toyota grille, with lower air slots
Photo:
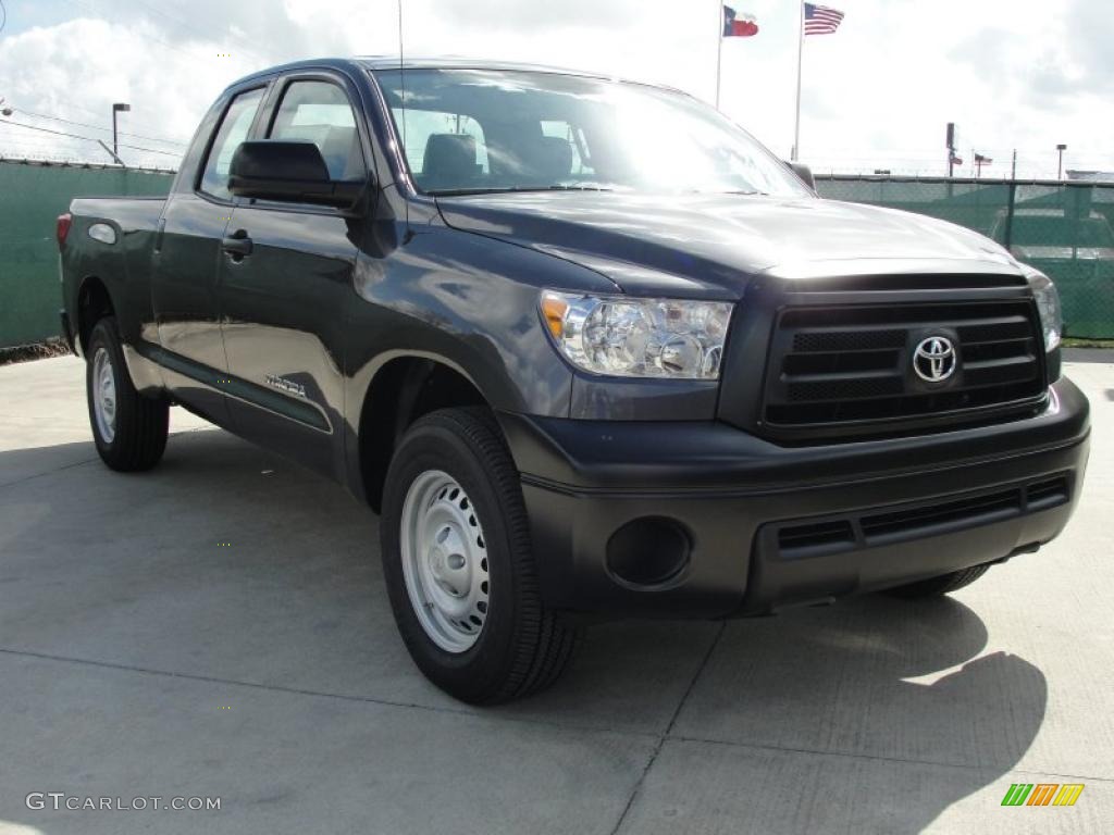
<path id="1" fill-rule="evenodd" d="M 1051 395 L 1025 420 L 814 446 L 719 422 L 500 422 L 551 608 L 719 618 L 911 582 L 1053 539 L 1075 508 L 1089 419 L 1069 381 Z M 616 538 L 646 520 L 648 538 Z M 655 550 L 663 520 L 687 540 L 678 569 L 646 583 L 617 574 L 616 543 Z"/>

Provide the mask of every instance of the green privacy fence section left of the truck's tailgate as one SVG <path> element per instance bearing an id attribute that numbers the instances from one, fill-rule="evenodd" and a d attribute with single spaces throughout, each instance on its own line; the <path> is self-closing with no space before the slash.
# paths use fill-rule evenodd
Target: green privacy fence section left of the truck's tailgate
<path id="1" fill-rule="evenodd" d="M 87 195 L 163 195 L 167 171 L 0 159 L 0 347 L 59 334 L 55 219 Z"/>

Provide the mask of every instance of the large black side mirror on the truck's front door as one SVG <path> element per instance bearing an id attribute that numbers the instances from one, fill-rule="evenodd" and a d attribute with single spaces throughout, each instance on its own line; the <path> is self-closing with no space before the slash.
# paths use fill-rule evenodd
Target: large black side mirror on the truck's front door
<path id="1" fill-rule="evenodd" d="M 228 190 L 236 197 L 351 209 L 365 187 L 365 183 L 330 179 L 329 166 L 313 143 L 242 143 L 228 168 Z"/>

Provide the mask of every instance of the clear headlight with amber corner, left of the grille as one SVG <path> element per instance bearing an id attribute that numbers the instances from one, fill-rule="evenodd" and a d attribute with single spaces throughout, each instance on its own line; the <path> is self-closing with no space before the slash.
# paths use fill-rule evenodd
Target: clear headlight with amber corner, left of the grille
<path id="1" fill-rule="evenodd" d="M 546 291 L 541 314 L 569 361 L 593 374 L 717 380 L 730 302 Z"/>

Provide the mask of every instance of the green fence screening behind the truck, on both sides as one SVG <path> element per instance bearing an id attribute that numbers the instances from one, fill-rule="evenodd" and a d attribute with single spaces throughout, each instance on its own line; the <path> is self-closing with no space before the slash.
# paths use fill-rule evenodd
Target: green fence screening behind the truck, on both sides
<path id="1" fill-rule="evenodd" d="M 55 218 L 82 195 L 165 195 L 166 171 L 0 160 L 0 347 L 58 334 Z M 1114 338 L 1114 184 L 818 177 L 820 194 L 961 224 L 1059 287 L 1071 336 Z"/>

